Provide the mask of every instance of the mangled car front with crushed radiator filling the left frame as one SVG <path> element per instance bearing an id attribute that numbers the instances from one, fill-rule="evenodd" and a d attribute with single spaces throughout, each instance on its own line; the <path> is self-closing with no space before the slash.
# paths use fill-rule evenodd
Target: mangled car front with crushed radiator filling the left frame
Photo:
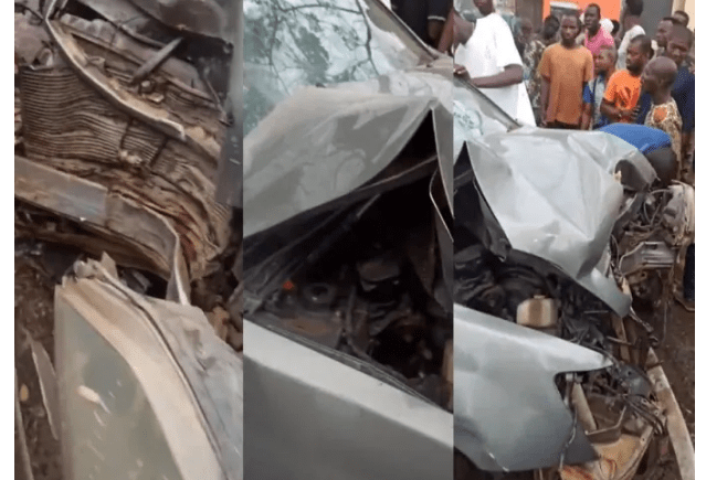
<path id="1" fill-rule="evenodd" d="M 239 11 L 15 2 L 27 479 L 243 478 Z"/>

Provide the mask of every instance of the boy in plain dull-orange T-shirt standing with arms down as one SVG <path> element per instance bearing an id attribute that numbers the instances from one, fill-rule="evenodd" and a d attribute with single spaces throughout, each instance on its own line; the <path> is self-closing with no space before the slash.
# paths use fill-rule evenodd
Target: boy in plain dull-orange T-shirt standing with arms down
<path id="1" fill-rule="evenodd" d="M 539 62 L 541 75 L 540 113 L 542 126 L 579 128 L 583 87 L 593 77 L 593 55 L 576 42 L 578 15 L 561 19 L 561 43 L 548 46 Z"/>

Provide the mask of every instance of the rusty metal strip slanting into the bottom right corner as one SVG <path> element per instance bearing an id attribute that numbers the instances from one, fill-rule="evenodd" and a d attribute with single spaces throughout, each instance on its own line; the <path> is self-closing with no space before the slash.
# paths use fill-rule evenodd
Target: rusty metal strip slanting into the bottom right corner
<path id="1" fill-rule="evenodd" d="M 665 409 L 667 431 L 676 455 L 682 480 L 696 480 L 696 457 L 692 436 L 686 427 L 679 404 L 674 396 L 674 391 L 653 349 L 647 352 L 647 362 L 655 365 L 647 372 L 647 375 L 654 384 L 657 399 Z"/>

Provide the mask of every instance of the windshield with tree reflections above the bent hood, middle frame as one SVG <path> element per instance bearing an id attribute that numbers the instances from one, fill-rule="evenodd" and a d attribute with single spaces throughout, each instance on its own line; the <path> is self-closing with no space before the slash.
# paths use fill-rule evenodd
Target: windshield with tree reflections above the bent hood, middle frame
<path id="1" fill-rule="evenodd" d="M 301 86 L 362 82 L 433 60 L 376 0 L 245 0 L 244 135 Z"/>

